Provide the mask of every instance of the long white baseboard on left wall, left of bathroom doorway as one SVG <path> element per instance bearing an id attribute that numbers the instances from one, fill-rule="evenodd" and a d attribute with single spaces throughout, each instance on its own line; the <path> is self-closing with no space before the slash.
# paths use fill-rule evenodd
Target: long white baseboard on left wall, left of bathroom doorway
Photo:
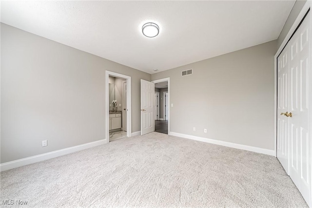
<path id="1" fill-rule="evenodd" d="M 85 149 L 96 147 L 96 146 L 99 146 L 102 144 L 106 144 L 106 139 L 102 139 L 102 140 L 98 140 L 98 141 L 94 141 L 94 142 L 89 142 L 86 144 L 77 145 L 74 147 L 69 147 L 69 148 L 65 148 L 65 149 L 61 149 L 61 150 L 57 150 L 57 151 L 50 151 L 47 153 L 38 154 L 35 156 L 26 157 L 23 159 L 14 160 L 14 161 L 7 162 L 7 163 L 1 163 L 0 164 L 0 171 L 10 170 L 10 169 L 18 168 L 21 166 L 29 165 L 32 163 L 37 163 L 37 162 L 40 162 L 43 160 L 51 159 L 54 157 L 59 157 L 59 156 L 62 156 L 64 154 L 73 153 L 75 151 L 85 150 Z"/>

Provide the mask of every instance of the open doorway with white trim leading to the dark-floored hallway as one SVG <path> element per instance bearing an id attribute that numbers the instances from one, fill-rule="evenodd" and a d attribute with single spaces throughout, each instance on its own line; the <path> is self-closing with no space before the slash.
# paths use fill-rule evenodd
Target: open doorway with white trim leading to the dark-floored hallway
<path id="1" fill-rule="evenodd" d="M 155 83 L 155 132 L 169 134 L 169 78 L 152 81 Z"/>

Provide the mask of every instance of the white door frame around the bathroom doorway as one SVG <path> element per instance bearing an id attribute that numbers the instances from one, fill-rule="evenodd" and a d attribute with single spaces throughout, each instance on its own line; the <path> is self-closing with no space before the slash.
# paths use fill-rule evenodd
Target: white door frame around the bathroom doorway
<path id="1" fill-rule="evenodd" d="M 131 137 L 131 76 L 126 76 L 122 74 L 118 74 L 116 72 L 105 72 L 105 105 L 106 105 L 106 143 L 109 143 L 109 95 L 108 95 L 108 83 L 109 76 L 115 76 L 118 78 L 127 80 L 127 136 Z M 123 86 L 122 86 L 123 87 Z"/>

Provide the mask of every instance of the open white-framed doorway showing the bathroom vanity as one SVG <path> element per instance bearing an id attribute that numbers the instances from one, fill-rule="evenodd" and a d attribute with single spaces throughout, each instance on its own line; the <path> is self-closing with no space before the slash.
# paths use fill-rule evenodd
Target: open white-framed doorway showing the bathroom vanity
<path id="1" fill-rule="evenodd" d="M 131 136 L 131 77 L 106 71 L 106 142 Z"/>

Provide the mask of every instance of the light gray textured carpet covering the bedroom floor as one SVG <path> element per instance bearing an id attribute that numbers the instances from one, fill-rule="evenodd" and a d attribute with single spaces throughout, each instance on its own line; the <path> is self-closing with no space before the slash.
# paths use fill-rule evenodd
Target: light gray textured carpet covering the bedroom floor
<path id="1" fill-rule="evenodd" d="M 307 207 L 273 156 L 156 132 L 3 171 L 0 204 L 12 207 L 5 199 L 27 201 L 22 207 Z"/>

